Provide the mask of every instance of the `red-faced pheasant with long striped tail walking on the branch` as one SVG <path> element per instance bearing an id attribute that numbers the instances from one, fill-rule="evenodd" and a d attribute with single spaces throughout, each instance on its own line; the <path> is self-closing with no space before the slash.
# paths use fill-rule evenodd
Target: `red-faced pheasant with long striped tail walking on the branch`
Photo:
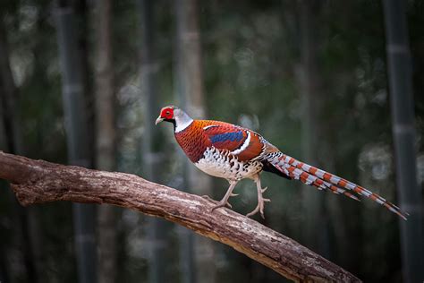
<path id="1" fill-rule="evenodd" d="M 321 191 L 344 194 L 356 201 L 360 201 L 359 196 L 367 197 L 405 220 L 408 216 L 377 193 L 284 154 L 250 129 L 221 121 L 195 120 L 172 105 L 160 110 L 156 124 L 163 121 L 174 124 L 176 142 L 196 167 L 210 176 L 225 178 L 230 184 L 212 212 L 225 206 L 232 208 L 228 200 L 237 195 L 233 193 L 235 185 L 248 178 L 256 184 L 258 205 L 246 216 L 259 212 L 265 219 L 265 202 L 271 200 L 263 196 L 267 187 L 262 188 L 260 174 L 267 171 L 290 180 L 300 180 Z"/>

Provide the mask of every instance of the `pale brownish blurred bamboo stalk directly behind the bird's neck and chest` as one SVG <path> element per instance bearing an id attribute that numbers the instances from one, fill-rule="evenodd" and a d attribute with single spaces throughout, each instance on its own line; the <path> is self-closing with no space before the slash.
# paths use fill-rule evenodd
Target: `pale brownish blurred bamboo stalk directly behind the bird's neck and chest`
<path id="1" fill-rule="evenodd" d="M 203 90 L 202 56 L 199 30 L 199 10 L 197 0 L 174 1 L 176 44 L 174 85 L 180 107 L 194 116 L 206 116 L 205 93 Z M 183 188 L 193 188 L 200 195 L 212 194 L 211 179 L 191 165 L 180 155 L 183 164 Z M 191 192 L 189 192 L 191 193 Z M 180 264 L 182 282 L 216 282 L 216 260 L 214 244 L 191 231 L 180 229 Z"/>

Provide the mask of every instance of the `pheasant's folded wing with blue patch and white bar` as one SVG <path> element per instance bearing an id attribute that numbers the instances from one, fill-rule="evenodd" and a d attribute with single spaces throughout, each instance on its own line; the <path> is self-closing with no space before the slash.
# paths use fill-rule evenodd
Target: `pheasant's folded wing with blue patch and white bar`
<path id="1" fill-rule="evenodd" d="M 216 149 L 227 150 L 241 161 L 258 159 L 265 149 L 258 133 L 241 126 L 208 121 L 203 131 Z"/>

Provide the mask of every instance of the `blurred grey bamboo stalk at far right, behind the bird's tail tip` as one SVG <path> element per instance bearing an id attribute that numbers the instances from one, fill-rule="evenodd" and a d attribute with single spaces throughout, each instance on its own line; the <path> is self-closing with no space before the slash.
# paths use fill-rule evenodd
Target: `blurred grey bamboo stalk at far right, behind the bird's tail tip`
<path id="1" fill-rule="evenodd" d="M 412 95 L 411 53 L 406 21 L 406 2 L 384 0 L 386 52 L 392 110 L 394 157 L 399 203 L 411 216 L 401 221 L 403 279 L 424 279 L 422 204 L 417 179 L 415 116 Z"/>

